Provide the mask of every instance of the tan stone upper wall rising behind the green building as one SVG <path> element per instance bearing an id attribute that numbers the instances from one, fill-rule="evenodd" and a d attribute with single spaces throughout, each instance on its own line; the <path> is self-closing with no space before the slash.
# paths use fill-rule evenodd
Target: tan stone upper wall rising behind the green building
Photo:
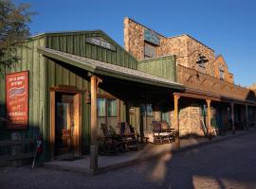
<path id="1" fill-rule="evenodd" d="M 151 30 L 129 18 L 124 19 L 124 47 L 137 60 L 144 59 L 144 30 L 146 29 Z M 233 76 L 229 73 L 225 60 L 220 57 L 215 58 L 214 51 L 207 45 L 198 42 L 187 34 L 167 38 L 153 30 L 151 31 L 158 36 L 160 42 L 159 45 L 155 45 L 156 57 L 175 55 L 177 64 L 192 68 L 211 77 L 219 77 L 217 68 L 219 67 L 218 63 L 221 63 L 225 67 L 224 80 L 233 83 Z M 196 63 L 199 55 L 203 55 L 209 60 L 203 66 Z"/>

